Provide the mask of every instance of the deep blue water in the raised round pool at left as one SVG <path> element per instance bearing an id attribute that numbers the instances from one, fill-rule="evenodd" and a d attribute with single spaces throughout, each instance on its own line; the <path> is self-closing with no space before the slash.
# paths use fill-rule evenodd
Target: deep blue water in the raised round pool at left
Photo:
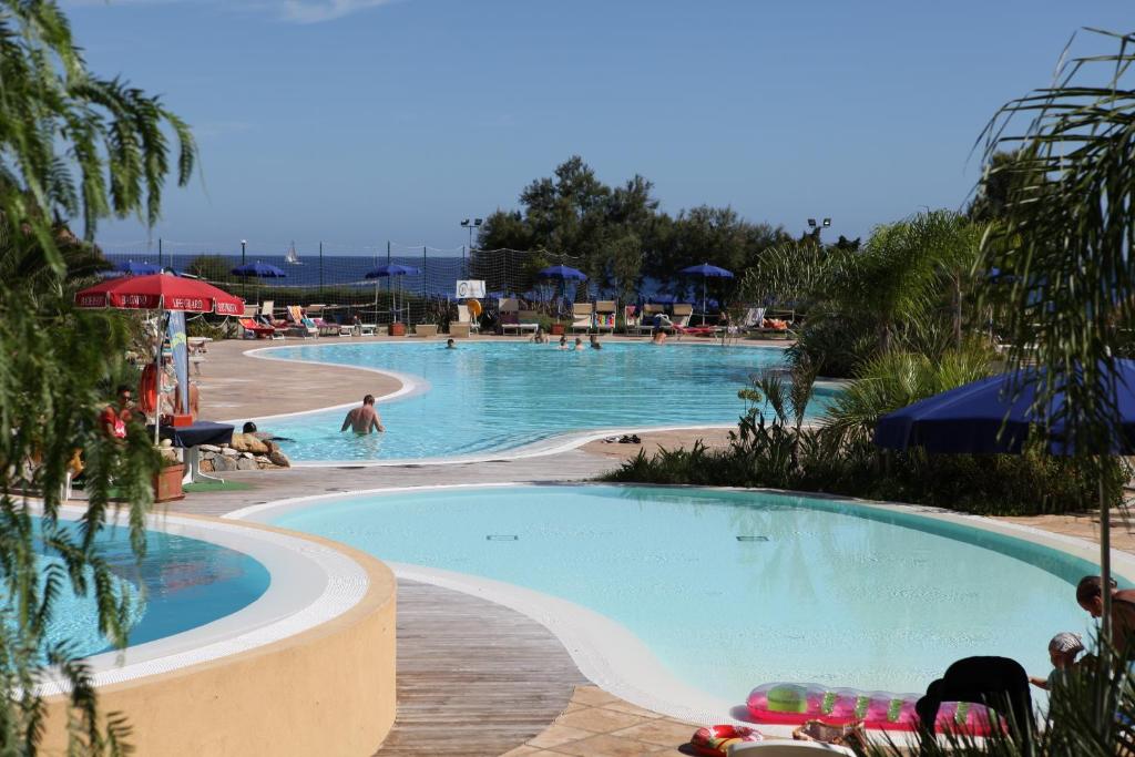
<path id="1" fill-rule="evenodd" d="M 107 532 L 99 541 L 118 590 L 134 598 L 132 646 L 235 613 L 255 602 L 271 580 L 253 557 L 200 539 L 148 531 L 141 565 L 125 529 Z M 51 556 L 41 560 L 58 562 Z M 68 641 L 84 657 L 110 649 L 99 632 L 94 598 L 76 595 L 69 584 L 56 605 L 47 640 Z"/>

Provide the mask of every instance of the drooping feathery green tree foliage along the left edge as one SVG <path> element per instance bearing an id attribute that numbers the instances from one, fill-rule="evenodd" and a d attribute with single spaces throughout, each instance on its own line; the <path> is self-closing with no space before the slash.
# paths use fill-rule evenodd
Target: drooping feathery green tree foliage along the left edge
<path id="1" fill-rule="evenodd" d="M 64 14 L 49 0 L 0 0 L 0 754 L 34 754 L 43 709 L 35 683 L 41 655 L 70 679 L 69 751 L 117 754 L 120 716 L 98 712 L 85 668 L 67 648 L 44 649 L 59 590 L 69 583 L 98 600 L 100 628 L 127 638 L 127 599 L 114 590 L 95 537 L 125 507 L 135 554 L 145 549 L 149 476 L 157 457 L 142 429 L 123 445 L 106 439 L 95 415 L 125 371 L 131 320 L 72 306 L 74 289 L 104 266 L 67 232 L 93 237 L 110 216 L 158 218 L 171 173 L 188 180 L 195 146 L 161 102 L 119 79 L 92 75 Z M 59 519 L 68 463 L 82 449 L 87 508 L 77 529 Z M 110 481 L 126 504 L 110 503 Z M 28 499 L 37 493 L 40 511 Z M 42 537 L 64 567 L 43 567 Z"/>

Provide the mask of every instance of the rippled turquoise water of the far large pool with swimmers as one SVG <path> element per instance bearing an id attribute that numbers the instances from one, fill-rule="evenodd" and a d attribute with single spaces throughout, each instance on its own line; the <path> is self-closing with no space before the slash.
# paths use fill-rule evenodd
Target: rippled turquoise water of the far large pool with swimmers
<path id="1" fill-rule="evenodd" d="M 422 392 L 380 403 L 386 434 L 340 434 L 345 411 L 305 413 L 259 426 L 295 439 L 295 461 L 463 455 L 520 447 L 571 431 L 639 426 L 735 423 L 753 373 L 783 364 L 783 351 L 605 343 L 560 351 L 526 340 L 344 344 L 269 353 L 309 362 L 377 368 L 415 377 Z M 310 387 L 318 396 L 319 387 Z M 830 390 L 817 390 L 813 412 Z M 362 397 L 360 397 L 360 401 Z"/>

